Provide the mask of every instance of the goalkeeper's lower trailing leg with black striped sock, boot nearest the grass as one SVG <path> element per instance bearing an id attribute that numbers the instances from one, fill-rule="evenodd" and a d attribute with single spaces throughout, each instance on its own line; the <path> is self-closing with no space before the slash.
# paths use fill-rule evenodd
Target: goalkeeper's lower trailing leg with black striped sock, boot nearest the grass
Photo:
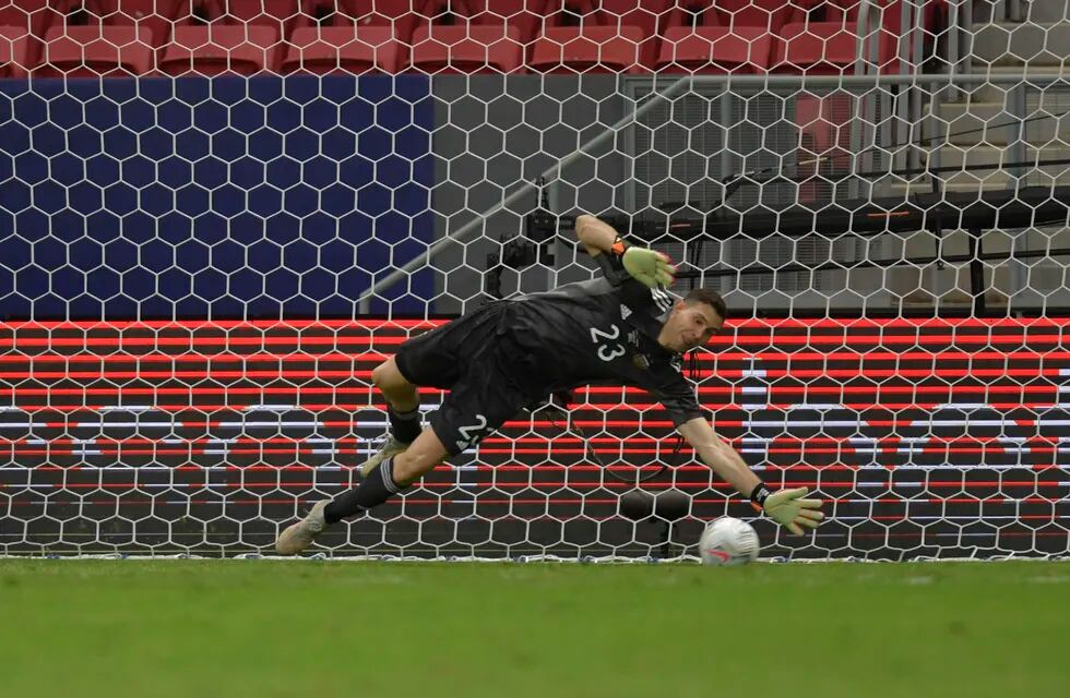
<path id="1" fill-rule="evenodd" d="M 428 426 L 404 453 L 382 459 L 376 471 L 359 485 L 313 506 L 308 516 L 282 532 L 275 541 L 275 551 L 281 555 L 301 552 L 326 527 L 382 504 L 424 477 L 447 455 L 445 446 Z"/>

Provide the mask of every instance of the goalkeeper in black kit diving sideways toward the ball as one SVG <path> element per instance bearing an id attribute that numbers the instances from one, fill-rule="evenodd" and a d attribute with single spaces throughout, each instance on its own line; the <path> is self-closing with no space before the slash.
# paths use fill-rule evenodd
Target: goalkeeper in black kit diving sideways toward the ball
<path id="1" fill-rule="evenodd" d="M 681 354 L 724 324 L 724 300 L 705 289 L 673 296 L 665 290 L 675 273 L 668 258 L 628 245 L 597 218 L 579 216 L 575 231 L 604 278 L 489 303 L 409 339 L 376 368 L 372 381 L 390 419 L 385 445 L 364 464 L 358 486 L 317 503 L 282 532 L 278 553 L 298 553 L 329 526 L 382 504 L 522 408 L 592 382 L 647 390 L 699 459 L 765 515 L 796 534 L 818 526 L 820 502 L 802 498 L 806 488 L 770 492 L 714 433 L 681 373 Z M 450 390 L 427 429 L 419 386 Z"/>

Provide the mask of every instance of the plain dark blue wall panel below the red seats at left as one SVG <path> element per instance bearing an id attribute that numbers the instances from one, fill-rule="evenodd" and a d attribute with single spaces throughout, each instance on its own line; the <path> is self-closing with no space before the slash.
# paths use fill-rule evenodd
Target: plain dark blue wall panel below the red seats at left
<path id="1" fill-rule="evenodd" d="M 433 119 L 417 75 L 2 81 L 0 320 L 352 317 L 433 238 Z"/>

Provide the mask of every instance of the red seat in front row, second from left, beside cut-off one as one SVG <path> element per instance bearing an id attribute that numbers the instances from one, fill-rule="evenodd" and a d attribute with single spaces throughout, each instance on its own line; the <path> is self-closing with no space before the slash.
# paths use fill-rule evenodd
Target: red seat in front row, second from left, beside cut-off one
<path id="1" fill-rule="evenodd" d="M 35 76 L 120 77 L 152 70 L 153 35 L 132 25 L 54 26 L 45 34 Z"/>

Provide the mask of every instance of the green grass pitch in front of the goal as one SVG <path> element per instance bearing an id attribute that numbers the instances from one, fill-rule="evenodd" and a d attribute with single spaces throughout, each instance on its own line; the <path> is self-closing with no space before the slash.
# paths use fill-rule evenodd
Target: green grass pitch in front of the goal
<path id="1" fill-rule="evenodd" d="M 0 561 L 2 695 L 1058 696 L 1070 564 Z"/>

